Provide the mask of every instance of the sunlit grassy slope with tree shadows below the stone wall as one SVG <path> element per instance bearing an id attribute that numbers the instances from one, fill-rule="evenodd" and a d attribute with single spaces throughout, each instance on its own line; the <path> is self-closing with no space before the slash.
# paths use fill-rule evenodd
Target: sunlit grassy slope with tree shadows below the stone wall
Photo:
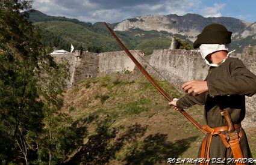
<path id="1" fill-rule="evenodd" d="M 69 157 L 92 164 L 98 160 L 105 164 L 166 164 L 170 157 L 196 158 L 204 134 L 168 106 L 145 77 L 130 74 L 84 79 L 65 94 L 69 102 L 64 102 L 63 108 L 87 127 L 84 145 L 76 151 L 93 152 L 90 160 L 87 152 Z M 168 82 L 156 82 L 172 97 L 181 96 Z M 90 86 L 85 88 L 86 84 Z M 74 101 L 76 104 L 69 106 Z M 202 106 L 186 112 L 204 124 Z M 249 131 L 255 157 L 253 136 Z"/>

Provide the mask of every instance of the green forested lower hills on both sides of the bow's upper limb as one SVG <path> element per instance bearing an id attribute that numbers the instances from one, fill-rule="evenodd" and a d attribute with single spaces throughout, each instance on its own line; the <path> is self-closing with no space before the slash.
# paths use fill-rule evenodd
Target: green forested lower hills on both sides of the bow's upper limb
<path id="1" fill-rule="evenodd" d="M 29 16 L 28 20 L 34 22 L 34 25 L 39 26 L 42 30 L 42 34 L 46 38 L 43 43 L 48 45 L 49 49 L 69 51 L 72 43 L 75 49 L 83 48 L 89 50 L 89 52 L 121 50 L 103 22 L 96 22 L 92 25 L 76 19 L 47 16 L 36 10 L 31 10 Z M 114 28 L 116 23 L 109 26 Z M 146 54 L 152 53 L 154 49 L 168 49 L 173 37 L 173 34 L 168 32 L 142 31 L 141 29 L 132 29 L 125 32 L 117 31 L 116 33 L 128 49 L 142 49 Z M 181 36 L 177 35 L 176 37 Z M 161 41 L 161 38 L 163 41 Z M 148 39 L 152 39 L 151 42 Z M 155 43 L 156 41 L 160 41 L 160 43 Z M 166 44 L 161 44 L 163 42 Z"/>

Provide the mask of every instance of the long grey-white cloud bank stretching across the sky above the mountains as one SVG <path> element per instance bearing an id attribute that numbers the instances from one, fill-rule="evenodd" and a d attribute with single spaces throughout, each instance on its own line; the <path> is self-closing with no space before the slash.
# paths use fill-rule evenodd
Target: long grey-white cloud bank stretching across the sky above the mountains
<path id="1" fill-rule="evenodd" d="M 198 8 L 202 0 L 34 0 L 33 7 L 51 16 L 66 16 L 84 22 L 121 22 L 146 14 L 182 16 Z"/>

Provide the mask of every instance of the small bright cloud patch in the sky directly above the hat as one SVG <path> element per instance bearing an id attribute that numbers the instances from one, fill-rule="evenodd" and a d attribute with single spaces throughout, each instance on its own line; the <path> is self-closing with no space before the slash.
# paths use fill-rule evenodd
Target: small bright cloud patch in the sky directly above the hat
<path id="1" fill-rule="evenodd" d="M 225 8 L 226 4 L 214 4 L 213 7 L 205 7 L 199 11 L 204 17 L 221 17 L 221 10 Z"/>

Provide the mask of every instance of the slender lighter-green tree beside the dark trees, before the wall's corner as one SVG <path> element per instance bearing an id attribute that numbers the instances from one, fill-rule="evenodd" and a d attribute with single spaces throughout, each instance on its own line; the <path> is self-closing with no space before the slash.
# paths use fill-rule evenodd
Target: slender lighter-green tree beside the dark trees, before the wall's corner
<path id="1" fill-rule="evenodd" d="M 40 96 L 44 103 L 43 106 L 43 131 L 36 138 L 36 144 L 39 151 L 39 158 L 48 160 L 49 164 L 52 160 L 63 158 L 61 152 L 64 149 L 57 148 L 57 144 L 61 141 L 58 136 L 58 131 L 61 130 L 59 125 L 69 125 L 72 121 L 68 115 L 60 113 L 62 107 L 62 93 L 66 88 L 67 79 L 69 77 L 69 65 L 63 59 L 58 63 L 58 69 L 52 68 L 49 65 L 43 66 L 43 74 L 40 75 Z M 64 124 L 63 124 L 64 123 Z M 65 127 L 63 127 L 65 128 Z M 63 137 L 63 133 L 61 133 Z M 34 138 L 35 139 L 35 138 Z M 40 155 L 42 153 L 42 156 Z M 48 155 L 48 159 L 46 158 Z M 42 160 L 42 161 L 43 161 Z"/>

